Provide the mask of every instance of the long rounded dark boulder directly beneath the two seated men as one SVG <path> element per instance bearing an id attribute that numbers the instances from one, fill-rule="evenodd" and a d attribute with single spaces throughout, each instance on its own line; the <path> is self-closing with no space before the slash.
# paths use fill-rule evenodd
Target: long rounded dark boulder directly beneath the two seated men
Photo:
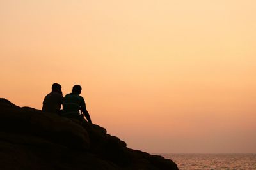
<path id="1" fill-rule="evenodd" d="M 90 138 L 86 129 L 51 113 L 30 108 L 0 104 L 0 131 L 39 136 L 60 145 L 88 149 Z"/>

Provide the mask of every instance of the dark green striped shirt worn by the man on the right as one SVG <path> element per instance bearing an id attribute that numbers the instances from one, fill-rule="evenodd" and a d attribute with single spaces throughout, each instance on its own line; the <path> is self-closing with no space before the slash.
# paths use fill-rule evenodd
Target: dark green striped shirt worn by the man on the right
<path id="1" fill-rule="evenodd" d="M 63 116 L 65 115 L 79 115 L 79 110 L 84 110 L 86 108 L 85 101 L 82 96 L 78 94 L 67 94 L 63 101 Z"/>

